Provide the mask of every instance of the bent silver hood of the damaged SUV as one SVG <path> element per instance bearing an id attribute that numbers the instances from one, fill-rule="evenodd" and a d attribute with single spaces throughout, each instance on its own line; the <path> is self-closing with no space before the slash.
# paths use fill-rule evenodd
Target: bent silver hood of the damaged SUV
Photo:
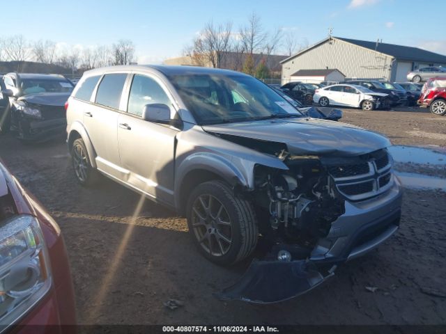
<path id="1" fill-rule="evenodd" d="M 351 157 L 390 146 L 389 139 L 354 125 L 311 118 L 203 125 L 206 132 L 284 143 L 292 154 Z"/>

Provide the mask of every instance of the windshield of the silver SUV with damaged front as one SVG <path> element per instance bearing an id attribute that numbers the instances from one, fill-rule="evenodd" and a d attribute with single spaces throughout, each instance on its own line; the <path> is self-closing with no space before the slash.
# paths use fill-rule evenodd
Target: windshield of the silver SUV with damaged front
<path id="1" fill-rule="evenodd" d="M 178 74 L 170 80 L 199 125 L 303 116 L 284 97 L 253 77 Z"/>

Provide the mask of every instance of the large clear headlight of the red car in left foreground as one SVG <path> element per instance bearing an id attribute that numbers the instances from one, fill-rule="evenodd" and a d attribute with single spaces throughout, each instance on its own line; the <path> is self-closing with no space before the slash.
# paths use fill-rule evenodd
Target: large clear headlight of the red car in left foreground
<path id="1" fill-rule="evenodd" d="M 10 218 L 0 228 L 0 325 L 17 321 L 49 287 L 49 257 L 37 219 Z"/>

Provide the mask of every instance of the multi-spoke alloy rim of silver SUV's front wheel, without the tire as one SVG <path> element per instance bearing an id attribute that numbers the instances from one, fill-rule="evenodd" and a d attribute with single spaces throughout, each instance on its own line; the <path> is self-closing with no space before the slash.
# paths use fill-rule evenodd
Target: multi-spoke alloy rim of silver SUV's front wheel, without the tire
<path id="1" fill-rule="evenodd" d="M 220 200 L 204 194 L 192 205 L 192 228 L 200 246 L 213 256 L 228 253 L 232 244 L 231 218 Z"/>

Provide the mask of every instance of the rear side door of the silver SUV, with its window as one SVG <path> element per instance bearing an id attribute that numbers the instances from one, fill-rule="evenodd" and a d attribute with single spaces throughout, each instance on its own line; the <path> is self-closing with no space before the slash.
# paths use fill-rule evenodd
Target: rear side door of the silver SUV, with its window
<path id="1" fill-rule="evenodd" d="M 96 164 L 102 172 L 121 179 L 119 167 L 118 115 L 125 110 L 121 95 L 127 73 L 105 74 L 93 93 L 94 103 L 85 104 L 83 122 L 96 152 Z"/>

